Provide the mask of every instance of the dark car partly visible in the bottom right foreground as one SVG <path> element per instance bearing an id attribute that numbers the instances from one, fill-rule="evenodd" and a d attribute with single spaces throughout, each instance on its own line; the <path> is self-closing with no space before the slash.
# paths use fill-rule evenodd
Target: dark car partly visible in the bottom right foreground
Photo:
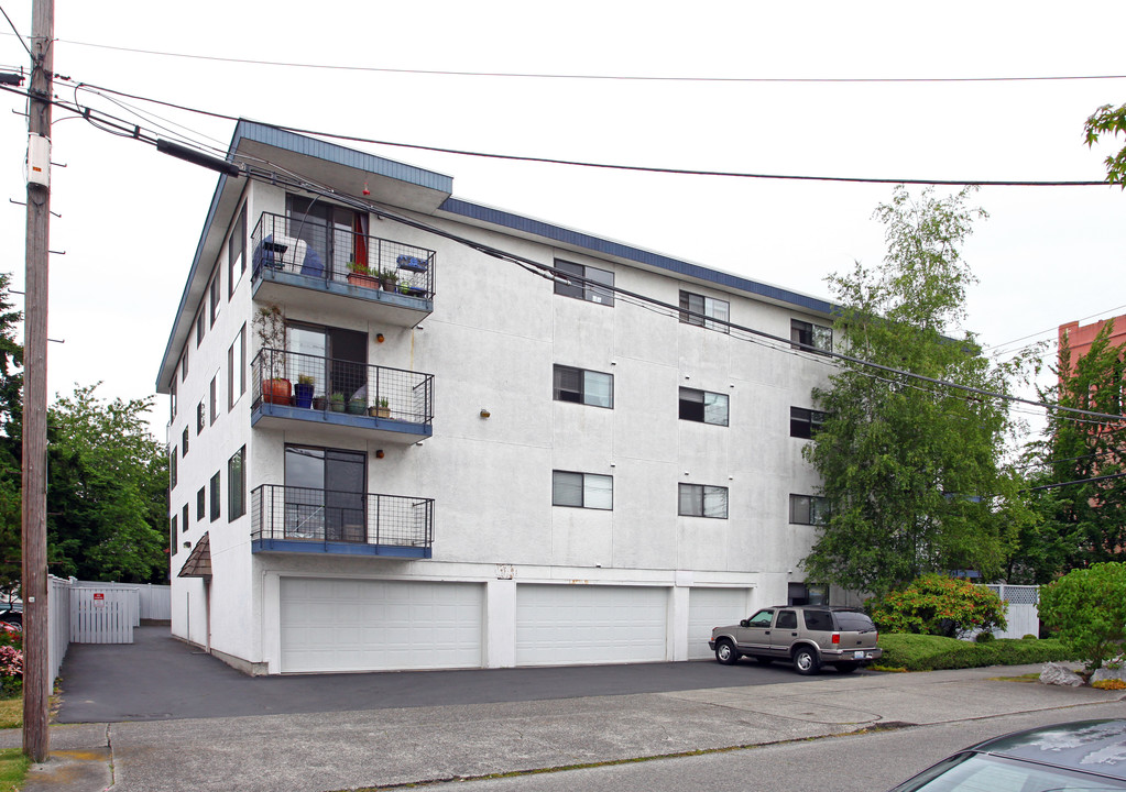
<path id="1" fill-rule="evenodd" d="M 1126 720 L 1080 720 L 971 746 L 892 792 L 1126 790 Z"/>

